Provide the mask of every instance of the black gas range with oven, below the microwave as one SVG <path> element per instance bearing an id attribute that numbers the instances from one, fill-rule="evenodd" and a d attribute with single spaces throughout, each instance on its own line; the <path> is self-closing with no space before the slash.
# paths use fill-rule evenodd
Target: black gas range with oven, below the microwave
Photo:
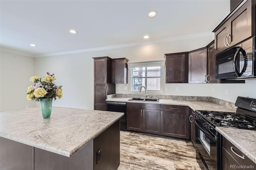
<path id="1" fill-rule="evenodd" d="M 235 105 L 236 112 L 194 112 L 197 159 L 202 160 L 208 170 L 221 170 L 221 142 L 216 127 L 256 130 L 256 99 L 238 97 Z"/>

